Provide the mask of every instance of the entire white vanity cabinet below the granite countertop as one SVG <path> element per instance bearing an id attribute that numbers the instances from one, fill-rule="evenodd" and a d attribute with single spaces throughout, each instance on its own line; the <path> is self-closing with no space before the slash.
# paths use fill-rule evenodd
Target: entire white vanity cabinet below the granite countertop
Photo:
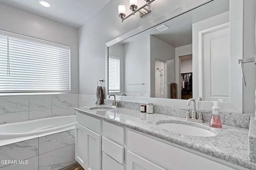
<path id="1" fill-rule="evenodd" d="M 82 113 L 76 113 L 75 144 L 85 170 L 247 170 Z"/>

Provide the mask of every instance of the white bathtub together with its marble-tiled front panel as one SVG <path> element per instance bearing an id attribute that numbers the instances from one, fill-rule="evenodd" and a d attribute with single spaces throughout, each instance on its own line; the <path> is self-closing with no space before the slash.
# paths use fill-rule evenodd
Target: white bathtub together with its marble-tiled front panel
<path id="1" fill-rule="evenodd" d="M 0 125 L 0 170 L 64 168 L 75 160 L 75 117 L 60 116 Z M 54 168 L 55 169 L 55 168 Z"/>

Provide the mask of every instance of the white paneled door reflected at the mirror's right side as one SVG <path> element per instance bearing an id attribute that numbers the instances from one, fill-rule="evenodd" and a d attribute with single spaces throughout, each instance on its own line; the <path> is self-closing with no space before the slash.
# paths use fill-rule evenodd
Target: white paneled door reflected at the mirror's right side
<path id="1" fill-rule="evenodd" d="M 202 61 L 201 95 L 205 101 L 223 99 L 229 102 L 229 24 L 221 24 L 199 32 L 199 60 Z"/>

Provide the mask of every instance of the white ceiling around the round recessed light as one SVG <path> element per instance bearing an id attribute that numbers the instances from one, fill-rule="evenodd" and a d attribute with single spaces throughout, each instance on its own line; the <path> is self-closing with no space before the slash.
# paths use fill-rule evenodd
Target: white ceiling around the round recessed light
<path id="1" fill-rule="evenodd" d="M 97 14 L 110 0 L 47 0 L 52 5 L 46 8 L 38 0 L 0 0 L 0 3 L 22 11 L 79 28 Z"/>

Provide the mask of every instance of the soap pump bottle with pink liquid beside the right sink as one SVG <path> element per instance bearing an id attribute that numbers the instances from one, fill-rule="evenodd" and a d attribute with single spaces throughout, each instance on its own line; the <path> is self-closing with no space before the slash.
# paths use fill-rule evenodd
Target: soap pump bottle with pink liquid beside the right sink
<path id="1" fill-rule="evenodd" d="M 212 116 L 209 124 L 211 127 L 222 128 L 219 110 L 220 108 L 218 107 L 218 102 L 214 101 L 212 106 Z"/>

